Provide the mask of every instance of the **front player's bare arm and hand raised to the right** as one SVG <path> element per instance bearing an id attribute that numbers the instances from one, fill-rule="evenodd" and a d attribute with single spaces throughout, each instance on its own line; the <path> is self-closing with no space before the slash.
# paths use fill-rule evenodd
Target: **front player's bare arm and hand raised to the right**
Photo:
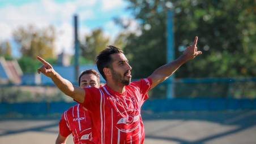
<path id="1" fill-rule="evenodd" d="M 202 54 L 202 51 L 197 51 L 197 40 L 198 37 L 195 37 L 193 45 L 187 47 L 184 53 L 179 58 L 177 58 L 173 62 L 157 68 L 152 73 L 152 75 L 150 76 L 150 78 L 152 79 L 151 89 L 153 89 L 155 86 L 171 76 L 182 64 Z"/>

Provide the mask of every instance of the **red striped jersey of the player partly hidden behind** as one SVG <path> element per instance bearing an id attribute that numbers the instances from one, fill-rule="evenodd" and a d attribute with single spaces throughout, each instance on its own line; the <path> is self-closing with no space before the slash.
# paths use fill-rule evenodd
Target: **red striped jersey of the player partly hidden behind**
<path id="1" fill-rule="evenodd" d="M 65 111 L 59 121 L 59 134 L 67 137 L 70 133 L 75 144 L 93 143 L 91 117 L 81 104 L 76 104 Z"/>

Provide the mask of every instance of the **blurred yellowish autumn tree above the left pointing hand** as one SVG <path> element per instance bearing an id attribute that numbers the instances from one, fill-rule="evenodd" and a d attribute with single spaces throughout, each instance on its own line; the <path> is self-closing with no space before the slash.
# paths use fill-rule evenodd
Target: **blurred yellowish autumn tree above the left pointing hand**
<path id="1" fill-rule="evenodd" d="M 36 56 L 48 59 L 54 57 L 54 40 L 56 33 L 53 27 L 37 29 L 33 26 L 20 27 L 13 33 L 15 41 L 20 46 L 23 56 L 33 59 Z"/>

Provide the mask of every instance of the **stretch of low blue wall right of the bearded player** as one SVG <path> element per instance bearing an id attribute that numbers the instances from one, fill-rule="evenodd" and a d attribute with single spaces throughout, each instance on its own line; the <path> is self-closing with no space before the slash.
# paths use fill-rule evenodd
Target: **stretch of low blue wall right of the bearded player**
<path id="1" fill-rule="evenodd" d="M 153 112 L 166 111 L 223 111 L 255 110 L 256 99 L 155 99 L 144 103 L 143 110 Z"/>

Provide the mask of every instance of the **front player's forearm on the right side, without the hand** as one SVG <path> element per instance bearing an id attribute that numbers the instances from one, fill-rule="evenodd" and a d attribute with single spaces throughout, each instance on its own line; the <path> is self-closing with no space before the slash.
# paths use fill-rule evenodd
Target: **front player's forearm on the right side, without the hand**
<path id="1" fill-rule="evenodd" d="M 152 86 L 151 89 L 154 88 L 156 85 L 160 84 L 161 82 L 165 81 L 169 76 L 172 76 L 174 72 L 177 71 L 178 68 L 182 66 L 182 64 L 187 62 L 187 58 L 184 55 L 181 55 L 178 59 L 165 64 L 157 68 L 152 75 L 150 76 L 152 79 Z"/>

